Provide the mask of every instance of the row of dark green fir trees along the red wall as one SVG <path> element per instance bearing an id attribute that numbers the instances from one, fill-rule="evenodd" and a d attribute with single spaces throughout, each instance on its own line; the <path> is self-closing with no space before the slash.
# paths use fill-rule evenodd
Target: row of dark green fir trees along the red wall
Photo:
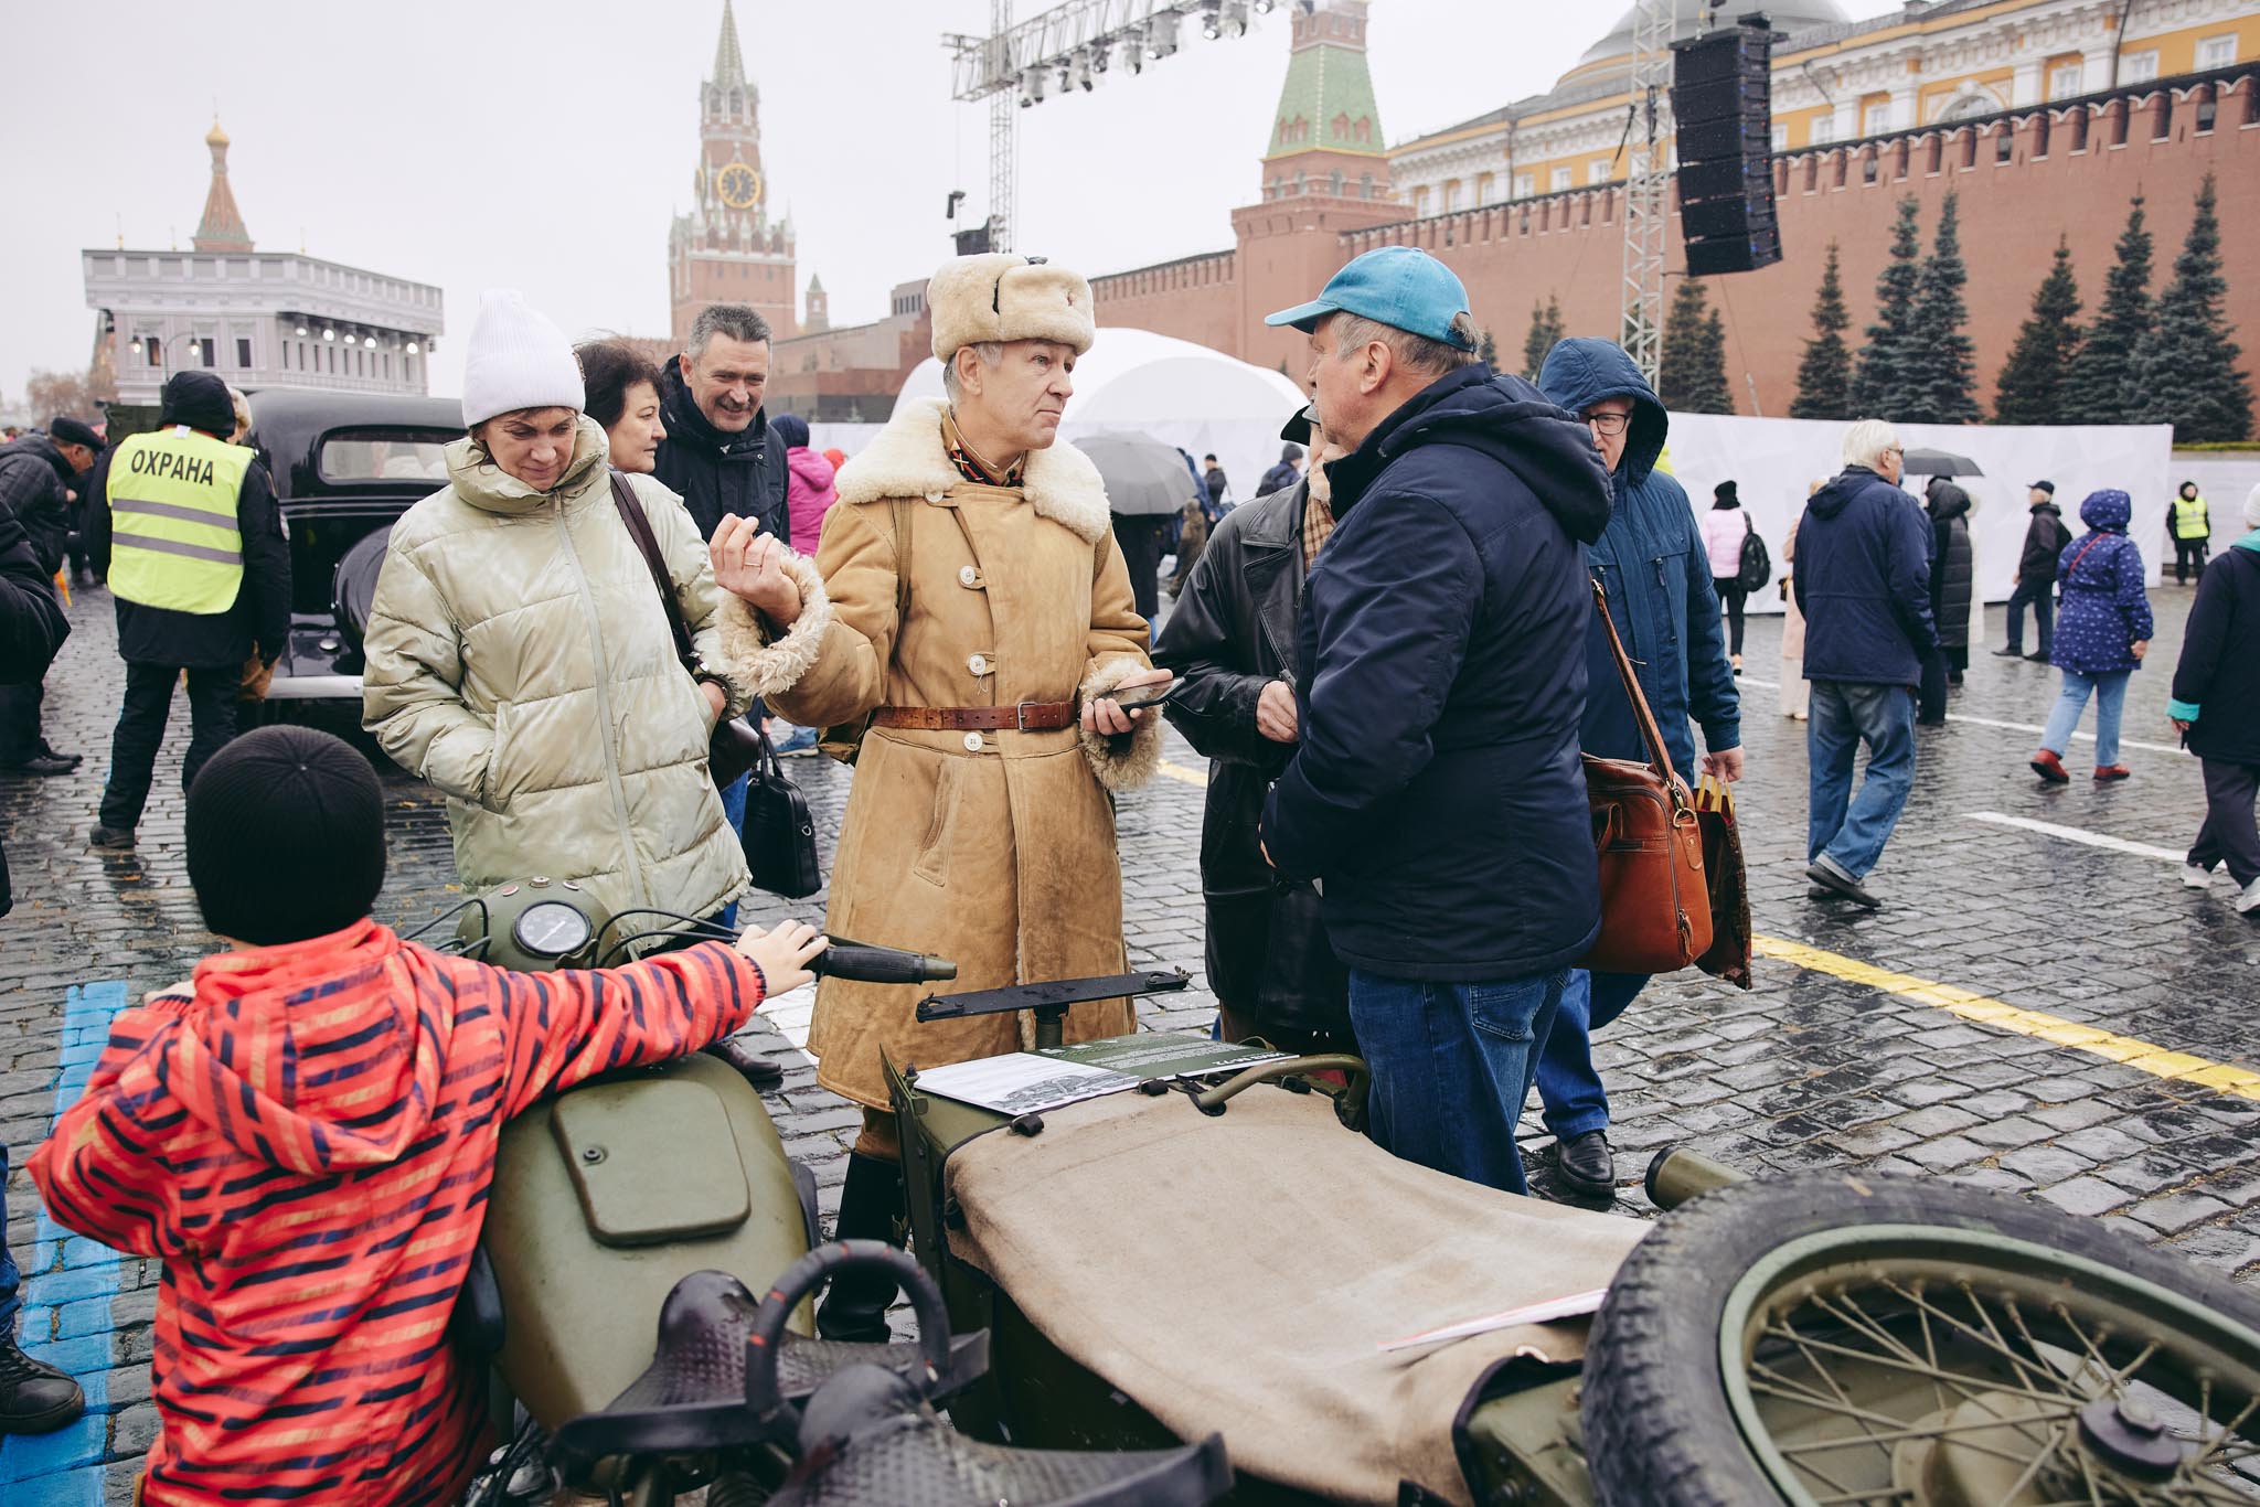
<path id="1" fill-rule="evenodd" d="M 1797 364 L 1790 418 L 1984 423 L 1966 287 L 1957 197 L 1948 192 L 1939 206 L 1928 255 L 1921 206 L 1912 194 L 1901 199 L 1892 255 L 1876 278 L 1876 319 L 1864 325 L 1855 350 L 1846 339 L 1853 321 L 1831 242 L 1813 298 L 1813 339 Z M 2156 294 L 2152 235 L 2142 197 L 2133 197 L 2093 325 L 2079 323 L 2072 253 L 2059 237 L 2054 260 L 2034 289 L 2032 316 L 1993 380 L 1993 423 L 2174 425 L 2181 445 L 2249 438 L 2253 393 L 2237 368 L 2226 291 L 2213 174 L 2197 190 L 2197 217 L 2174 258 L 2174 276 Z M 1537 368 L 1559 330 L 1557 303 L 1532 307 L 1525 371 Z M 1700 278 L 1681 278 L 1672 294 L 1657 395 L 1679 413 L 1733 413 L 1727 332 Z"/>

